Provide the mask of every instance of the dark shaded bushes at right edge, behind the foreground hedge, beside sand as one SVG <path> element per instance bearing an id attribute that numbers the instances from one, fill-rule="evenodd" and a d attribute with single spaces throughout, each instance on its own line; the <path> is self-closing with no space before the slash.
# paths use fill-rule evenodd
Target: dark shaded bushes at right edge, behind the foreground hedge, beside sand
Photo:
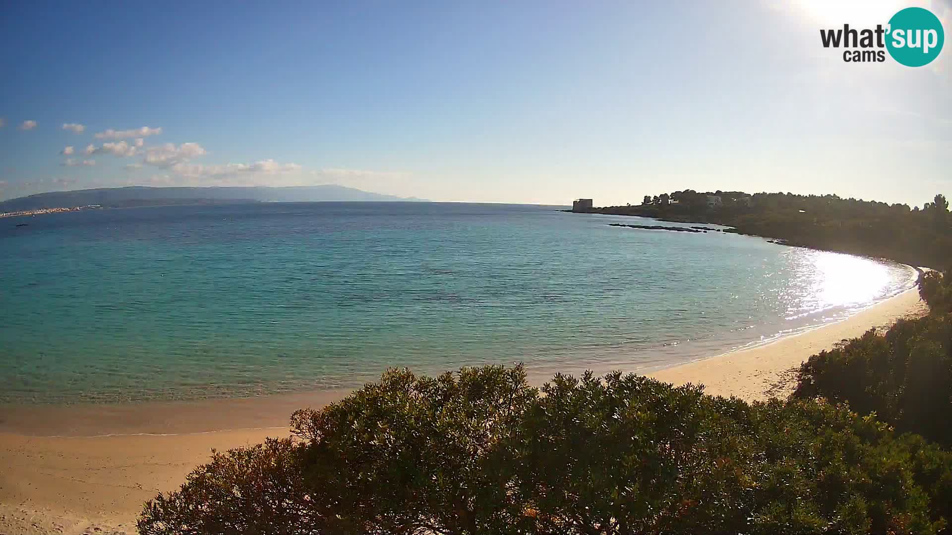
<path id="1" fill-rule="evenodd" d="M 794 395 L 847 402 L 899 431 L 952 446 L 952 279 L 926 273 L 920 283 L 929 315 L 900 320 L 883 334 L 866 332 L 810 357 Z"/>

